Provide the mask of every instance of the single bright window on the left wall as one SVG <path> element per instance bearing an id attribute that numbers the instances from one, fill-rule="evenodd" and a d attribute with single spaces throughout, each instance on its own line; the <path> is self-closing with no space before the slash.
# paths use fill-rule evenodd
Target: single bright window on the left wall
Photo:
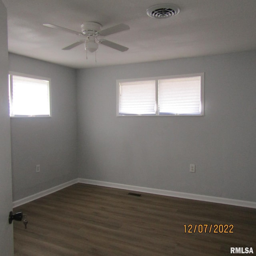
<path id="1" fill-rule="evenodd" d="M 50 116 L 50 79 L 9 75 L 10 116 Z"/>

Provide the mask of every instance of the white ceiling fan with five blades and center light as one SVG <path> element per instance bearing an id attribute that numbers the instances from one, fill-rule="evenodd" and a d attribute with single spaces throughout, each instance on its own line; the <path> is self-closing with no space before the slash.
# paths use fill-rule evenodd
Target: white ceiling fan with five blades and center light
<path id="1" fill-rule="evenodd" d="M 49 23 L 44 23 L 43 24 L 46 27 L 49 28 L 55 28 L 55 29 L 60 29 L 72 34 L 76 34 L 78 36 L 82 36 L 83 39 L 78 40 L 78 42 L 75 42 L 74 44 L 71 44 L 69 46 L 66 46 L 65 48 L 63 48 L 62 50 L 70 50 L 80 44 L 84 43 L 84 48 L 87 52 L 87 50 L 89 52 L 95 52 L 96 50 L 98 50 L 98 44 L 103 44 L 105 46 L 108 46 L 110 48 L 113 48 L 115 50 L 118 50 L 120 52 L 125 52 L 127 51 L 129 48 L 122 46 L 120 44 L 116 44 L 114 42 L 111 42 L 109 40 L 103 39 L 103 38 L 98 38 L 101 36 L 108 36 L 111 34 L 115 34 L 118 32 L 122 32 L 124 30 L 128 30 L 130 29 L 130 27 L 126 24 L 118 24 L 116 26 L 112 26 L 110 28 L 106 28 L 103 30 L 101 29 L 101 25 L 99 23 L 96 22 L 84 22 L 81 24 L 81 30 L 82 32 L 78 32 L 78 31 L 74 31 L 74 30 L 70 30 L 68 28 L 63 28 L 57 25 L 53 25 L 53 24 L 49 24 Z"/>

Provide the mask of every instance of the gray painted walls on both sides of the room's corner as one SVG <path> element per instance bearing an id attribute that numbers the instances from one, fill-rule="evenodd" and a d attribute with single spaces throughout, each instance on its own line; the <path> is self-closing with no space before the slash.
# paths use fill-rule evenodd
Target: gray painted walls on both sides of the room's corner
<path id="1" fill-rule="evenodd" d="M 77 71 L 9 60 L 52 79 L 51 118 L 11 118 L 14 201 L 78 177 L 256 201 L 256 52 Z M 116 79 L 200 72 L 204 116 L 116 117 Z"/>

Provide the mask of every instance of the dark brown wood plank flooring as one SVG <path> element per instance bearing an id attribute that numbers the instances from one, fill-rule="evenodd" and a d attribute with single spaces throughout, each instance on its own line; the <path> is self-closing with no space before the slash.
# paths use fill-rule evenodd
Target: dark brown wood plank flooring
<path id="1" fill-rule="evenodd" d="M 128 192 L 78 183 L 15 208 L 28 214 L 28 225 L 14 221 L 14 255 L 222 256 L 230 247 L 256 253 L 256 209 Z M 208 224 L 206 232 L 194 232 L 195 224 Z M 222 233 L 210 232 L 211 224 L 234 225 L 233 233 L 222 226 Z"/>

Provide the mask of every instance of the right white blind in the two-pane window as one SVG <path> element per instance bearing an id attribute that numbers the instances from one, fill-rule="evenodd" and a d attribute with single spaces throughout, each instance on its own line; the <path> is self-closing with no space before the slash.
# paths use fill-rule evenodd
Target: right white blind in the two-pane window
<path id="1" fill-rule="evenodd" d="M 201 77 L 158 80 L 159 114 L 200 114 Z"/>

